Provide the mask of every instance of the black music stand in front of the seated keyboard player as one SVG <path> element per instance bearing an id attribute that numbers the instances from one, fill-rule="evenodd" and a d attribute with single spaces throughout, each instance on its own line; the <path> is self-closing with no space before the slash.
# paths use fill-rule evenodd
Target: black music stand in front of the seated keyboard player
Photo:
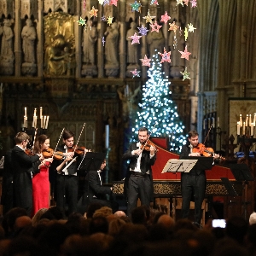
<path id="1" fill-rule="evenodd" d="M 106 153 L 87 152 L 84 156 L 84 170 L 86 172 L 100 170 L 104 159 L 106 159 Z"/>

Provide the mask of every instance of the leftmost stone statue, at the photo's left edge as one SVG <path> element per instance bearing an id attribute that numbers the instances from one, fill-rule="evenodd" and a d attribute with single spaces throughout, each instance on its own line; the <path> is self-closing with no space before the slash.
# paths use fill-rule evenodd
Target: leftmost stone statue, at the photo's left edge
<path id="1" fill-rule="evenodd" d="M 4 19 L 3 26 L 0 26 L 0 36 L 2 36 L 1 42 L 1 60 L 6 62 L 13 62 L 15 55 L 13 51 L 13 37 L 14 32 L 12 31 L 11 20 Z"/>

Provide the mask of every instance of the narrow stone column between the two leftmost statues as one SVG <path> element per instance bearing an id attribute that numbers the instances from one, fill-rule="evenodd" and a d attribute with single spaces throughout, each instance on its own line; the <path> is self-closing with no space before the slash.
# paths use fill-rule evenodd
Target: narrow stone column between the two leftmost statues
<path id="1" fill-rule="evenodd" d="M 20 77 L 21 67 L 21 26 L 20 0 L 15 0 L 15 76 Z"/>

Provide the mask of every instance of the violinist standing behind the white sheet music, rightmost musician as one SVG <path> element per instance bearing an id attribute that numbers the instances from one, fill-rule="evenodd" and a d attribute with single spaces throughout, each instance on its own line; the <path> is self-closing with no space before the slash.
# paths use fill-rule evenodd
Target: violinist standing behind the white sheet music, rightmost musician
<path id="1" fill-rule="evenodd" d="M 197 131 L 189 131 L 189 144 L 183 145 L 180 158 L 185 156 L 201 156 L 197 149 L 199 145 Z M 218 159 L 218 154 L 212 154 L 213 160 Z M 213 163 L 212 163 L 213 164 Z M 183 172 L 181 176 L 182 186 L 182 218 L 189 217 L 190 201 L 195 201 L 195 226 L 201 227 L 201 204 L 204 201 L 207 177 L 205 170 L 196 170 L 192 168 L 190 172 Z"/>

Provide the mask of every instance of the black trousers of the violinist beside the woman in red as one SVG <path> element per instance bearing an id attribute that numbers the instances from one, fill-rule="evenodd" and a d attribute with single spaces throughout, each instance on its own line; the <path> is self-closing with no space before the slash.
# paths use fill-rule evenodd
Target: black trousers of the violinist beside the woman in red
<path id="1" fill-rule="evenodd" d="M 61 212 L 64 214 L 65 206 L 67 204 L 68 210 L 67 214 L 69 215 L 73 212 L 77 212 L 78 204 L 78 187 L 79 179 L 74 175 L 56 175 L 55 182 L 55 201 L 56 207 L 61 209 Z"/>

